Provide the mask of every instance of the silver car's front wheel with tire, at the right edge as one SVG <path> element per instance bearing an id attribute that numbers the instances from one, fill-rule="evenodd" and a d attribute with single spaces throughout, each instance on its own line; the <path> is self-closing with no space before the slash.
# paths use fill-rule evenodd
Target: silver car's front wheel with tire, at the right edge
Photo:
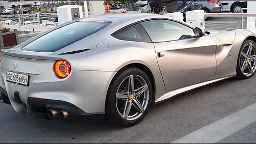
<path id="1" fill-rule="evenodd" d="M 245 41 L 239 51 L 237 59 L 237 78 L 247 79 L 256 71 L 256 43 L 252 40 Z"/>

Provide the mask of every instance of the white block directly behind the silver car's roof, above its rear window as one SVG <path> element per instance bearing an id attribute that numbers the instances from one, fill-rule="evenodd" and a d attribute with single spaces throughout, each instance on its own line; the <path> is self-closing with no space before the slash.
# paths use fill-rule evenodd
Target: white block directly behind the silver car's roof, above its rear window
<path id="1" fill-rule="evenodd" d="M 100 15 L 105 13 L 104 1 L 89 1 L 90 15 Z"/>

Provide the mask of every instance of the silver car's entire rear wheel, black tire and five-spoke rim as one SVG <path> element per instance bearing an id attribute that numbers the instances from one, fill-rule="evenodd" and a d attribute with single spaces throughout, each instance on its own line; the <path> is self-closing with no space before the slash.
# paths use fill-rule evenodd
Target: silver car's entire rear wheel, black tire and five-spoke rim
<path id="1" fill-rule="evenodd" d="M 111 82 L 107 100 L 107 118 L 122 126 L 138 124 L 146 116 L 153 90 L 147 74 L 130 67 L 119 71 Z"/>

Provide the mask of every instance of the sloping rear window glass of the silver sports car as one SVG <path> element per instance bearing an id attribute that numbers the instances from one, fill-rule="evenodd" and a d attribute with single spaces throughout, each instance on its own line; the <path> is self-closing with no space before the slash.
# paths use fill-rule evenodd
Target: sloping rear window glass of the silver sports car
<path id="1" fill-rule="evenodd" d="M 54 52 L 106 28 L 108 22 L 74 22 L 45 34 L 22 47 L 22 50 Z"/>

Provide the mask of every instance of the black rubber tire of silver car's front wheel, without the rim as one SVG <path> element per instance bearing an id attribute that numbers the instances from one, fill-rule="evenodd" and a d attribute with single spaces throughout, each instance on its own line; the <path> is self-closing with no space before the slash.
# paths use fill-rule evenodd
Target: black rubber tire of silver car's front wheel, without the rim
<path id="1" fill-rule="evenodd" d="M 241 46 L 240 50 L 239 50 L 239 54 L 238 54 L 238 58 L 237 58 L 237 65 L 236 65 L 236 77 L 238 79 L 247 79 L 247 78 L 251 78 L 254 74 L 255 74 L 255 70 L 253 71 L 253 73 L 251 75 L 245 75 L 243 73 L 243 71 L 241 70 L 241 53 L 244 49 L 246 49 L 246 46 L 248 46 L 249 44 L 253 44 L 254 46 L 256 46 L 256 43 L 254 41 L 252 41 L 251 39 L 247 39 Z M 254 55 L 256 54 L 256 50 L 254 51 Z M 252 61 L 248 61 L 248 62 L 252 62 Z M 253 66 L 255 65 L 255 63 L 253 63 Z"/>

